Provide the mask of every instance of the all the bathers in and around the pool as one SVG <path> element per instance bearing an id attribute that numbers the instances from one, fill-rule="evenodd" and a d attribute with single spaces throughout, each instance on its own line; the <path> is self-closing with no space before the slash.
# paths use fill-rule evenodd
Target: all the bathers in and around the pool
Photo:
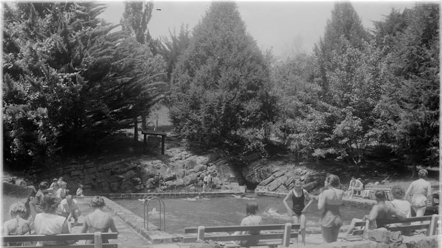
<path id="1" fill-rule="evenodd" d="M 368 220 L 370 229 L 382 228 L 378 227 L 376 220 L 392 219 L 406 220 L 411 217 L 411 209 L 416 213 L 416 217 L 423 216 L 427 207 L 427 203 L 432 196 L 431 184 L 426 180 L 428 172 L 420 170 L 416 181 L 413 181 L 407 191 L 399 186 L 391 188 L 393 200 L 386 202 L 386 194 L 383 190 L 375 192 L 376 204 L 371 211 L 361 218 L 354 218 L 347 230 L 350 235 L 357 221 Z M 354 178 L 352 178 L 352 181 Z M 317 208 L 322 213 L 320 216 L 320 227 L 325 243 L 337 240 L 340 227 L 343 220 L 341 218 L 339 208 L 344 197 L 344 190 L 339 189 L 340 179 L 337 175 L 330 174 L 324 182 L 324 187 L 318 196 Z M 357 182 L 350 182 L 349 190 L 353 191 L 357 187 Z M 353 192 L 348 192 L 351 197 Z M 75 197 L 83 196 L 83 186 L 79 186 Z M 406 200 L 410 197 L 410 201 Z M 235 197 L 237 197 L 235 195 Z M 202 198 L 199 194 L 195 199 Z M 194 199 L 194 198 L 192 198 Z M 307 202 L 307 204 L 306 204 Z M 291 208 L 290 208 L 291 203 Z M 283 205 L 287 213 L 292 217 L 293 223 L 299 223 L 299 233 L 302 237 L 303 245 L 306 244 L 306 222 L 307 209 L 313 203 L 313 197 L 307 190 L 303 188 L 303 182 L 300 178 L 294 180 L 294 187 L 283 199 Z M 90 206 L 94 208 L 91 214 L 86 215 L 86 220 L 82 225 L 82 233 L 90 232 L 118 232 L 112 219 L 112 215 L 103 211 L 105 200 L 101 196 L 94 196 L 91 199 Z M 157 214 L 155 209 L 149 214 Z M 241 226 L 258 225 L 262 223 L 262 217 L 256 215 L 258 205 L 255 202 L 249 202 L 246 205 L 246 217 L 241 221 Z M 270 211 L 269 211 L 270 212 Z M 81 216 L 81 210 L 78 201 L 66 190 L 66 182 L 63 177 L 54 179 L 52 184 L 41 182 L 35 194 L 28 197 L 25 204 L 15 202 L 10 207 L 12 219 L 4 223 L 5 236 L 7 235 L 24 235 L 24 234 L 64 234 L 70 233 L 71 228 L 77 225 L 78 217 Z M 71 222 L 73 220 L 73 222 Z M 71 222 L 71 223 L 70 223 Z M 70 224 L 69 224 L 70 223 Z M 240 234 L 238 232 L 235 234 Z M 247 233 L 247 232 L 245 232 Z M 243 234 L 245 234 L 243 233 Z M 250 232 L 249 232 L 250 233 Z M 253 234 L 253 233 L 251 233 Z M 257 242 L 257 240 L 255 240 Z M 88 240 L 86 242 L 93 242 Z M 103 242 L 108 242 L 104 240 Z M 40 242 L 37 245 L 60 244 L 57 242 Z M 240 242 L 243 246 L 253 246 L 253 242 Z"/>

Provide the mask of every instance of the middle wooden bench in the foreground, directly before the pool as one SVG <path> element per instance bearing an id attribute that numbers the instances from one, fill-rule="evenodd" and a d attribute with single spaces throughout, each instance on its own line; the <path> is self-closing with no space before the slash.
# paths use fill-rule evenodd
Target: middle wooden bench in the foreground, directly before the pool
<path id="1" fill-rule="evenodd" d="M 258 240 L 258 244 L 256 246 L 268 245 L 268 246 L 277 246 L 281 245 L 284 247 L 288 247 L 290 245 L 290 239 L 298 238 L 300 224 L 268 224 L 268 225 L 257 225 L 257 226 L 226 226 L 226 227 L 204 227 L 199 226 L 195 228 L 185 228 L 184 233 L 196 233 L 196 237 L 185 237 L 184 243 L 192 243 L 196 242 L 196 240 L 212 240 L 212 241 L 239 241 L 239 240 L 248 240 L 248 241 L 256 241 Z M 240 234 L 240 235 L 206 235 L 207 233 L 220 233 L 220 232 L 236 232 L 236 231 L 249 231 L 249 232 L 265 232 L 256 235 L 252 234 Z M 269 233 L 267 231 L 275 231 L 274 233 Z M 278 232 L 279 231 L 279 232 Z M 226 247 L 241 247 L 240 244 L 237 243 L 226 243 Z"/>

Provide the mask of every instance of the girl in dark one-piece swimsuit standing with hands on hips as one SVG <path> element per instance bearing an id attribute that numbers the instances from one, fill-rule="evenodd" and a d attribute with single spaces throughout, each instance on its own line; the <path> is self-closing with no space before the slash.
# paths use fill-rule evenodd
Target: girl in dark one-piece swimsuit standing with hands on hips
<path id="1" fill-rule="evenodd" d="M 299 232 L 302 235 L 303 245 L 306 245 L 306 222 L 307 218 L 305 215 L 306 209 L 312 204 L 313 198 L 310 197 L 309 192 L 303 189 L 303 183 L 298 178 L 295 180 L 295 187 L 290 190 L 290 192 L 284 197 L 283 204 L 287 209 L 288 213 L 293 216 L 293 223 L 300 223 Z M 290 210 L 287 200 L 292 198 L 292 209 Z M 309 199 L 307 205 L 305 205 L 305 200 Z"/>

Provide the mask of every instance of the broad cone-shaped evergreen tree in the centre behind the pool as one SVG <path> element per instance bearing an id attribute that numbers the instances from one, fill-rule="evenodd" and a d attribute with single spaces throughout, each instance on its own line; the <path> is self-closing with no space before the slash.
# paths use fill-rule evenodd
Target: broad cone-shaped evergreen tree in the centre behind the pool
<path id="1" fill-rule="evenodd" d="M 178 133 L 206 147 L 238 145 L 244 132 L 275 118 L 263 54 L 237 6 L 213 2 L 172 73 L 171 119 Z"/>

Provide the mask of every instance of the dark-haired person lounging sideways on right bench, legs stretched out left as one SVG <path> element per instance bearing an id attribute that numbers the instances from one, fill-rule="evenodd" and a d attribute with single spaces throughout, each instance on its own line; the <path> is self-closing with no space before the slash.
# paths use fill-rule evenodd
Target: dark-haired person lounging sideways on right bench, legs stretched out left
<path id="1" fill-rule="evenodd" d="M 378 228 L 376 223 L 377 219 L 393 219 L 393 218 L 397 218 L 399 220 L 407 219 L 407 216 L 404 213 L 394 208 L 393 206 L 385 204 L 386 196 L 384 191 L 378 190 L 374 195 L 376 197 L 377 204 L 373 205 L 370 214 L 365 215 L 364 218 L 362 219 L 354 218 L 351 220 L 350 227 L 347 230 L 347 236 L 353 233 L 353 230 L 355 228 L 355 223 L 359 221 L 365 221 L 365 220 L 370 221 L 368 228 L 372 230 Z"/>

